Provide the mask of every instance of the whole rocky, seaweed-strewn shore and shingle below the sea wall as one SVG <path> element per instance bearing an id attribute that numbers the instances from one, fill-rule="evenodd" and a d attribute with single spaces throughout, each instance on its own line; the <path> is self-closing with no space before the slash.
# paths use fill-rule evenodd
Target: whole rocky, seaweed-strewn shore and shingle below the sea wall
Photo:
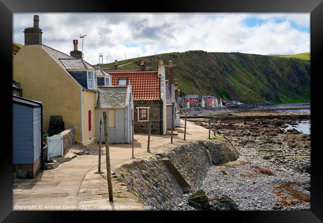
<path id="1" fill-rule="evenodd" d="M 192 120 L 208 128 L 207 119 Z M 227 138 L 241 158 L 210 167 L 200 188 L 209 204 L 228 196 L 239 210 L 310 210 L 311 136 L 286 129 L 300 122 L 310 120 L 217 120 L 216 134 Z M 184 195 L 176 210 L 202 210 L 189 205 L 191 196 Z"/>

